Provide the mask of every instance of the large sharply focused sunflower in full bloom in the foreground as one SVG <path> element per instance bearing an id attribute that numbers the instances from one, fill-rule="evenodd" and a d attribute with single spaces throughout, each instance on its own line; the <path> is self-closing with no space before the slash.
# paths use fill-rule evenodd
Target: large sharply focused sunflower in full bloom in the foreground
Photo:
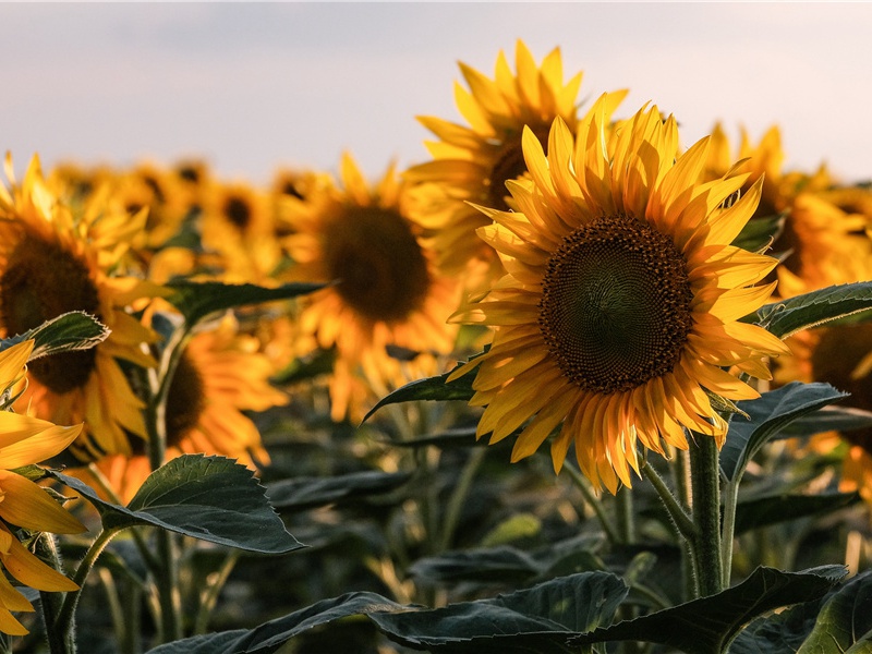
<path id="1" fill-rule="evenodd" d="M 513 461 L 562 422 L 555 470 L 574 443 L 584 474 L 614 493 L 639 471 L 638 443 L 687 448 L 687 428 L 723 444 L 727 425 L 708 393 L 758 397 L 723 368 L 768 377 L 763 359 L 787 350 L 737 322 L 774 288 L 751 284 L 775 259 L 729 245 L 760 184 L 727 207 L 747 175 L 701 184 L 707 138 L 677 156 L 676 121 L 656 107 L 607 135 L 608 106 L 597 100 L 576 142 L 555 120 L 547 156 L 524 132 L 532 183 L 509 183 L 519 210 L 481 208 L 495 223 L 479 233 L 507 275 L 456 316 L 493 326 L 493 343 L 451 379 L 477 371 L 470 402 L 486 405 L 480 437 L 522 427 Z"/>

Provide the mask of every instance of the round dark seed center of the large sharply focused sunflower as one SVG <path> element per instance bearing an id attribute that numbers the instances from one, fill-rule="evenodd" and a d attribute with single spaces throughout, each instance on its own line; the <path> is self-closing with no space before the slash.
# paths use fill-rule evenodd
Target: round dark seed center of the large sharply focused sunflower
<path id="1" fill-rule="evenodd" d="M 538 325 L 564 375 L 608 395 L 674 370 L 693 325 L 691 299 L 669 237 L 604 216 L 566 237 L 548 261 Z"/>

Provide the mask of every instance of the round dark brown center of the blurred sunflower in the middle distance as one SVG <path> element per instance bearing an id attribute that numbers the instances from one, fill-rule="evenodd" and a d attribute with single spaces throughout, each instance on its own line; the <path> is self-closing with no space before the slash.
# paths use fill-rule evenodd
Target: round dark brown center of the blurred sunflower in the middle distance
<path id="1" fill-rule="evenodd" d="M 347 206 L 326 225 L 325 262 L 337 292 L 363 317 L 405 319 L 429 290 L 427 261 L 403 217 L 380 207 Z"/>

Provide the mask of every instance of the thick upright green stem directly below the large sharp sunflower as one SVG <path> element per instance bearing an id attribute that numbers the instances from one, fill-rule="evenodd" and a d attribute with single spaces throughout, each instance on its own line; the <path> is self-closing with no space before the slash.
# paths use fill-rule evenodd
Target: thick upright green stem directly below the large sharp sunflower
<path id="1" fill-rule="evenodd" d="M 693 495 L 693 522 L 697 537 L 693 553 L 700 596 L 706 597 L 724 589 L 720 565 L 720 471 L 714 438 L 694 434 L 690 448 L 690 477 Z"/>

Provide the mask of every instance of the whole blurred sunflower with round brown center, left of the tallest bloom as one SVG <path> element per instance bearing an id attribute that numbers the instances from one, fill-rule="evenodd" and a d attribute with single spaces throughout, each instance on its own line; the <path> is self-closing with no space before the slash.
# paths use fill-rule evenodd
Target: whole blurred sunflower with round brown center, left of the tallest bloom
<path id="1" fill-rule="evenodd" d="M 350 155 L 342 158 L 343 189 L 332 181 L 311 189 L 305 201 L 287 198 L 295 233 L 288 247 L 303 281 L 335 281 L 304 301 L 303 338 L 336 348 L 330 378 L 331 414 L 355 416 L 359 372 L 377 386 L 396 386 L 434 374 L 435 355 L 450 352 L 457 328 L 446 324 L 457 308 L 457 284 L 441 277 L 407 209 L 407 186 L 390 167 L 370 187 Z M 388 349 L 403 350 L 403 359 Z"/>

